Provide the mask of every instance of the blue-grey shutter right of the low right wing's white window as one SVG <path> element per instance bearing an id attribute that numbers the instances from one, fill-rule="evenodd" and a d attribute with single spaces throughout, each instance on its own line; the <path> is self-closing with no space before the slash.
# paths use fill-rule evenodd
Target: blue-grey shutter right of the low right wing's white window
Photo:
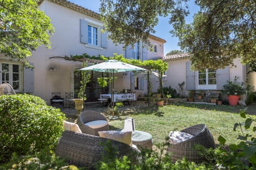
<path id="1" fill-rule="evenodd" d="M 229 66 L 226 66 L 225 69 L 218 69 L 217 74 L 217 90 L 221 90 L 222 86 L 227 83 L 229 80 Z"/>

